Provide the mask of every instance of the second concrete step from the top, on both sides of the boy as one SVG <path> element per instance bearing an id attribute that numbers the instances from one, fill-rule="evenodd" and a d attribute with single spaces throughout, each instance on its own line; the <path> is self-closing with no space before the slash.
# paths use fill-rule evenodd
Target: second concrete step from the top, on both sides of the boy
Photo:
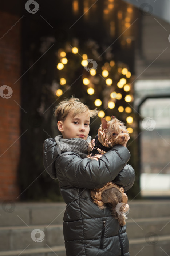
<path id="1" fill-rule="evenodd" d="M 151 234 L 155 239 L 169 235 L 170 217 L 143 218 L 127 220 L 127 235 L 129 239 L 148 239 Z M 39 229 L 40 232 L 37 232 Z M 34 232 L 33 239 L 31 237 Z M 44 240 L 43 240 L 44 238 Z M 64 246 L 63 225 L 31 225 L 0 228 L 1 250 L 24 249 L 29 244 L 29 248 L 41 248 L 49 246 Z"/>

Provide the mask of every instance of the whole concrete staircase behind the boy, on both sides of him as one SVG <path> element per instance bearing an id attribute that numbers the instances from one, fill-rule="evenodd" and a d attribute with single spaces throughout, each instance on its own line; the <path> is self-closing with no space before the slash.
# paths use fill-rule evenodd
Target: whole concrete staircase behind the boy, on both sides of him
<path id="1" fill-rule="evenodd" d="M 129 206 L 130 255 L 170 255 L 170 200 L 129 200 Z M 11 207 L 9 203 L 6 207 L 1 204 L 0 256 L 66 256 L 65 208 L 65 203 L 15 202 Z"/>

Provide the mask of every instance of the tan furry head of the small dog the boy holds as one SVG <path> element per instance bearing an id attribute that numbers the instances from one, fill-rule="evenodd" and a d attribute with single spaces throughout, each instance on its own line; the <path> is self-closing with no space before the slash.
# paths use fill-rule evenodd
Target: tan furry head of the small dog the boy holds
<path id="1" fill-rule="evenodd" d="M 104 131 L 108 140 L 110 140 L 114 145 L 122 145 L 124 144 L 124 141 L 129 138 L 126 126 L 114 116 L 112 116 L 111 121 L 107 121 L 102 117 L 100 129 Z"/>

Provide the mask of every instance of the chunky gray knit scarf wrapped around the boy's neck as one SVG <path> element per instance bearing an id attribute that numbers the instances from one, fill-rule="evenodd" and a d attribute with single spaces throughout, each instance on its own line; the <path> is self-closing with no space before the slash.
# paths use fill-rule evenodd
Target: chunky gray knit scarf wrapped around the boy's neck
<path id="1" fill-rule="evenodd" d="M 81 138 L 63 139 L 62 135 L 55 137 L 55 141 L 62 152 L 71 151 L 80 155 L 81 158 L 86 158 L 87 146 L 91 142 L 91 136 L 88 135 L 87 140 Z"/>

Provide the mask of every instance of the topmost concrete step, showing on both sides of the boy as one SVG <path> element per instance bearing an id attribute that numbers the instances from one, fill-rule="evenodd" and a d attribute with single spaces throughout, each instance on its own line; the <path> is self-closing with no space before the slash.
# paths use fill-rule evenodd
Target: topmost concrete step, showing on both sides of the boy
<path id="1" fill-rule="evenodd" d="M 128 203 L 128 218 L 166 217 L 170 212 L 170 200 L 129 200 Z M 65 203 L 13 202 L 9 209 L 9 203 L 1 203 L 1 226 L 61 224 L 65 208 Z"/>

